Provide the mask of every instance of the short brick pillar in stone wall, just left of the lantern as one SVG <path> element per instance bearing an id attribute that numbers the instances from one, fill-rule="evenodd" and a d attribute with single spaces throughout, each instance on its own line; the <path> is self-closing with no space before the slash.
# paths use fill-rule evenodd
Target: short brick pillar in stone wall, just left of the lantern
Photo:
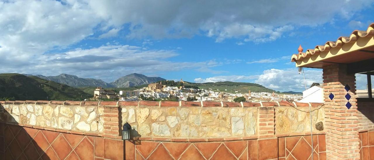
<path id="1" fill-rule="evenodd" d="M 104 137 L 122 139 L 122 114 L 117 102 L 100 102 L 104 105 Z"/>

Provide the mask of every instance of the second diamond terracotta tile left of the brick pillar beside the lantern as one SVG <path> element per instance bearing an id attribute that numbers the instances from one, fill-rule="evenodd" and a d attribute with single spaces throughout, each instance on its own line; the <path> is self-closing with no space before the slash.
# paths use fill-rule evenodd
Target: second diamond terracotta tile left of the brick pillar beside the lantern
<path id="1" fill-rule="evenodd" d="M 73 150 L 62 135 L 58 136 L 51 146 L 60 159 L 65 159 Z"/>

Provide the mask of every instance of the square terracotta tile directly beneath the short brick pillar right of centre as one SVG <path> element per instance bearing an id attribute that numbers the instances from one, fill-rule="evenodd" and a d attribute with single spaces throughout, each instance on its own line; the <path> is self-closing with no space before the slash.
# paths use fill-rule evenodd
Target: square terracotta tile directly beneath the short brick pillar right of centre
<path id="1" fill-rule="evenodd" d="M 278 138 L 258 140 L 258 159 L 278 158 Z"/>

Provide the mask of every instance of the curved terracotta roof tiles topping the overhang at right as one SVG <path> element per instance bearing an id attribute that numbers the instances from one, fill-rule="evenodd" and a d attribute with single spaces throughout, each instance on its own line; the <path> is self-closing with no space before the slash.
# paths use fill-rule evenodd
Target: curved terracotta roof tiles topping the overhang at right
<path id="1" fill-rule="evenodd" d="M 357 37 L 366 37 L 368 35 L 374 34 L 374 23 L 370 24 L 368 29 L 366 31 L 362 30 L 354 30 L 349 37 L 339 37 L 336 41 L 327 41 L 325 45 L 317 45 L 314 49 L 307 49 L 306 52 L 302 52 L 303 48 L 301 48 L 301 45 L 298 48 L 299 53 L 294 54 L 291 57 L 291 61 L 295 62 L 297 60 L 301 60 L 305 57 L 310 57 L 313 54 L 319 54 L 322 51 L 328 51 L 335 47 L 343 46 L 346 43 L 352 43 L 356 42 Z"/>

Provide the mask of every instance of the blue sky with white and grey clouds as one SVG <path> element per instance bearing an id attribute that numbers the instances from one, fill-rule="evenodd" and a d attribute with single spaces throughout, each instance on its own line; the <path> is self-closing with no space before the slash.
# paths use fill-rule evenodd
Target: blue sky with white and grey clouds
<path id="1" fill-rule="evenodd" d="M 372 0 L 0 0 L 0 73 L 130 73 L 303 91 L 291 55 L 366 30 Z M 305 69 L 306 84 L 322 82 Z M 358 75 L 357 88 L 365 89 Z M 374 79 L 374 78 L 372 78 Z"/>

